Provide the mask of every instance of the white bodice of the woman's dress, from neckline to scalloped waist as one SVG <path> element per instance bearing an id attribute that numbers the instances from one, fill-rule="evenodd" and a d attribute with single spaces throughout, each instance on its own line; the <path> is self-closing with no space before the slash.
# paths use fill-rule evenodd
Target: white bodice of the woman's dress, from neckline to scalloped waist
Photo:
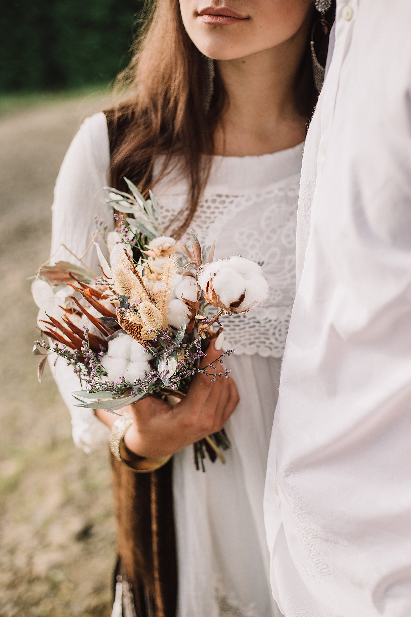
<path id="1" fill-rule="evenodd" d="M 216 258 L 258 262 L 270 288 L 267 304 L 222 318 L 235 354 L 281 357 L 295 295 L 295 235 L 303 145 L 256 157 L 214 157 L 210 180 L 192 221 L 202 246 L 216 240 Z M 160 161 L 159 161 L 160 163 Z M 158 184 L 165 225 L 184 207 L 187 187 Z M 187 231 L 184 242 L 190 242 Z"/>

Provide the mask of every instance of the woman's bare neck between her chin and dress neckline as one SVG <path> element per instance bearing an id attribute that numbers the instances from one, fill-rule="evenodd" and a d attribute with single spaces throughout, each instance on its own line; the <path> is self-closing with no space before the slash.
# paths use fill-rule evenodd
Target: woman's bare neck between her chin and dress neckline
<path id="1" fill-rule="evenodd" d="M 259 155 L 304 141 L 306 118 L 295 104 L 295 79 L 306 28 L 272 49 L 236 60 L 218 60 L 229 106 L 215 134 L 215 154 Z"/>

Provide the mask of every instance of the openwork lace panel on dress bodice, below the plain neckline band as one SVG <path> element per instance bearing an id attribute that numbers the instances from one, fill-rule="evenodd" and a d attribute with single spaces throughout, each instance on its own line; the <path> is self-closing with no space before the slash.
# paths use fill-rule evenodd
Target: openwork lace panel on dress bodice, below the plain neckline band
<path id="1" fill-rule="evenodd" d="M 235 354 L 276 358 L 283 354 L 295 296 L 298 189 L 299 175 L 259 193 L 217 194 L 209 185 L 193 218 L 201 246 L 216 239 L 216 258 L 242 255 L 258 262 L 269 284 L 265 307 L 222 318 L 225 346 Z M 168 225 L 184 206 L 184 196 L 164 194 L 159 201 Z M 182 240 L 190 246 L 190 231 Z"/>

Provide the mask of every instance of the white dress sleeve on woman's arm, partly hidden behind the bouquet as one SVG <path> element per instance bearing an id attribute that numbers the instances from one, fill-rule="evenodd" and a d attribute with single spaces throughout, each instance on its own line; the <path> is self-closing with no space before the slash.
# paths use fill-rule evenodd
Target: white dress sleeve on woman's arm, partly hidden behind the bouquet
<path id="1" fill-rule="evenodd" d="M 51 263 L 74 255 L 94 271 L 98 260 L 94 246 L 87 251 L 96 231 L 96 217 L 113 228 L 113 214 L 104 204 L 102 188 L 108 184 L 110 146 L 105 115 L 93 115 L 81 125 L 68 148 L 54 189 L 52 205 Z M 64 246 L 62 246 L 64 245 Z M 101 246 L 104 251 L 104 246 Z M 67 250 L 70 249 L 70 250 Z M 71 251 L 71 252 L 70 252 Z M 81 389 L 78 376 L 63 358 L 49 356 L 49 365 L 60 394 L 71 413 L 75 445 L 91 452 L 108 442 L 108 428 L 92 409 L 75 407 L 71 392 Z"/>

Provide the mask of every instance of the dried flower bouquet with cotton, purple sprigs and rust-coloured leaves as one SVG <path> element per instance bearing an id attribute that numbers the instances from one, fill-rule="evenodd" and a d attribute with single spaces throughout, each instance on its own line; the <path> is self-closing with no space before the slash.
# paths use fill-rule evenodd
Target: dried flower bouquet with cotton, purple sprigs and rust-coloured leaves
<path id="1" fill-rule="evenodd" d="M 149 395 L 178 402 L 196 373 L 227 377 L 222 360 L 232 350 L 218 358 L 219 373 L 215 364 L 213 373 L 200 368 L 222 330 L 219 317 L 258 307 L 268 295 L 258 264 L 243 257 L 214 261 L 215 243 L 202 251 L 194 231 L 190 248 L 165 236 L 153 194 L 144 199 L 126 182 L 130 194 L 107 189 L 116 231 L 96 222 L 110 254 L 107 262 L 94 242 L 101 275 L 58 262 L 41 267 L 32 283 L 41 331 L 33 352 L 44 356 L 39 381 L 46 355 L 55 353 L 84 384 L 73 392 L 77 406 L 113 413 Z M 227 447 L 224 429 L 195 443 L 197 469 L 205 470 L 206 454 L 224 462 Z"/>

